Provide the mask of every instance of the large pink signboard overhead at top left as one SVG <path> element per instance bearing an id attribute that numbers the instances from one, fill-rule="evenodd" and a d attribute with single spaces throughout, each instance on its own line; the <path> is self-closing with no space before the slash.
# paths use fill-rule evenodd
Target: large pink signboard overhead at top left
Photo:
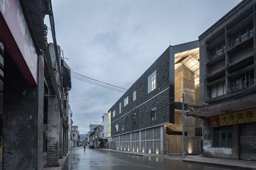
<path id="1" fill-rule="evenodd" d="M 0 39 L 28 84 L 37 85 L 38 55 L 19 0 L 0 0 Z"/>

